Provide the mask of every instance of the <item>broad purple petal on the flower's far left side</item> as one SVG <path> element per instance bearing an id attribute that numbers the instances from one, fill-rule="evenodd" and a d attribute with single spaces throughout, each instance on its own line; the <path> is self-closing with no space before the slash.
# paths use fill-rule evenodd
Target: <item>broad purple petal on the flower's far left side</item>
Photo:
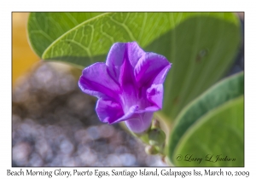
<path id="1" fill-rule="evenodd" d="M 79 79 L 79 87 L 84 93 L 96 97 L 108 96 L 117 99 L 120 93 L 119 85 L 108 75 L 105 63 L 95 63 L 84 68 Z"/>

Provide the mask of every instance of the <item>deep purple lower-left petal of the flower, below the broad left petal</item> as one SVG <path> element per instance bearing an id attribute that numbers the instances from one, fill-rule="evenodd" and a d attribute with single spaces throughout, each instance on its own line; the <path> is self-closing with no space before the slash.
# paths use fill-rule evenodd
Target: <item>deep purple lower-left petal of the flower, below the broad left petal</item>
<path id="1" fill-rule="evenodd" d="M 96 104 L 96 113 L 103 123 L 113 123 L 124 115 L 119 103 L 108 99 L 99 99 Z"/>

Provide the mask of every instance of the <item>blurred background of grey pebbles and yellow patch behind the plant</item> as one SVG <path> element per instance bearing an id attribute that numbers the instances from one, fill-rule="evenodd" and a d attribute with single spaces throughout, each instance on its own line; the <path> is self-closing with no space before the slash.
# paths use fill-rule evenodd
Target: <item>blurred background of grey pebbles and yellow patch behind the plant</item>
<path id="1" fill-rule="evenodd" d="M 99 121 L 96 99 L 79 90 L 81 71 L 40 61 L 27 41 L 27 17 L 12 14 L 12 165 L 166 166 L 119 124 Z M 226 76 L 244 70 L 243 46 Z"/>

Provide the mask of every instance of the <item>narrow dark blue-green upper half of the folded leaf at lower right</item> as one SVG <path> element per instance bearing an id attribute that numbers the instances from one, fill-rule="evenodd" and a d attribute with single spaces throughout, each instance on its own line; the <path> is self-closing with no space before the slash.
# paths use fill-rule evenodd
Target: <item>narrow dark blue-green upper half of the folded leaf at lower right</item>
<path id="1" fill-rule="evenodd" d="M 169 137 L 167 150 L 168 156 L 172 162 L 175 161 L 176 157 L 174 151 L 177 150 L 177 145 L 183 140 L 183 137 L 188 135 L 188 130 L 194 129 L 197 123 L 200 123 L 203 118 L 206 118 L 205 116 L 208 115 L 208 113 L 213 113 L 212 111 L 217 107 L 220 107 L 243 94 L 244 75 L 243 72 L 240 72 L 230 78 L 225 78 L 196 98 L 195 101 L 190 102 L 187 107 L 183 108 L 183 111 L 177 116 L 172 134 Z M 234 117 L 232 115 L 227 115 L 226 118 L 227 119 L 224 120 L 230 120 L 229 118 Z M 240 120 L 243 123 L 243 116 Z M 208 127 L 211 127 L 211 125 Z M 216 129 L 212 126 L 212 130 Z M 214 135 L 218 136 L 218 133 L 212 133 L 212 136 Z M 201 136 L 205 136 L 204 133 L 201 133 Z M 204 145 L 204 143 L 202 142 L 201 145 Z M 200 147 L 200 145 L 198 147 Z M 191 153 L 194 151 L 195 150 L 191 151 Z"/>

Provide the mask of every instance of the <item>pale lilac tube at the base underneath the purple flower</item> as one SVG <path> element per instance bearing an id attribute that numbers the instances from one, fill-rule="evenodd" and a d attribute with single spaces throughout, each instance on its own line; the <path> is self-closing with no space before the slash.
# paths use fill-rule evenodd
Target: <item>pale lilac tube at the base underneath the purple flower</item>
<path id="1" fill-rule="evenodd" d="M 143 131 L 148 130 L 153 117 L 153 112 L 138 113 L 137 115 L 134 115 L 134 117 L 137 118 L 126 120 L 125 124 L 132 132 L 142 133 Z"/>

